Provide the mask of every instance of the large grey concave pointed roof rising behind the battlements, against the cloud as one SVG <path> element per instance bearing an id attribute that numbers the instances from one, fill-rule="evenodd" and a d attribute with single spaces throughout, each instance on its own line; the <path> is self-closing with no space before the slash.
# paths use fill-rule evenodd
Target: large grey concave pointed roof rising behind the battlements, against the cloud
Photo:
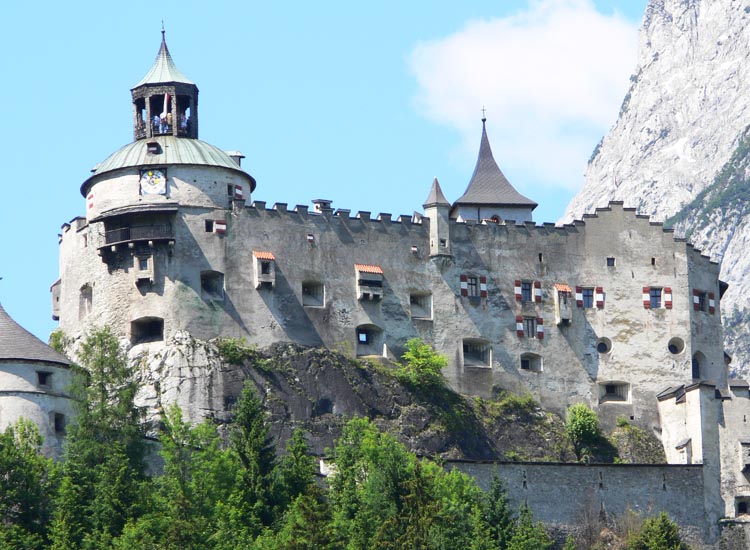
<path id="1" fill-rule="evenodd" d="M 487 139 L 484 120 L 482 120 L 482 142 L 479 146 L 479 157 L 474 174 L 464 194 L 453 203 L 453 208 L 455 209 L 460 204 L 528 206 L 532 210 L 537 207 L 537 203 L 515 190 L 497 166 L 492 156 L 490 140 Z"/>

